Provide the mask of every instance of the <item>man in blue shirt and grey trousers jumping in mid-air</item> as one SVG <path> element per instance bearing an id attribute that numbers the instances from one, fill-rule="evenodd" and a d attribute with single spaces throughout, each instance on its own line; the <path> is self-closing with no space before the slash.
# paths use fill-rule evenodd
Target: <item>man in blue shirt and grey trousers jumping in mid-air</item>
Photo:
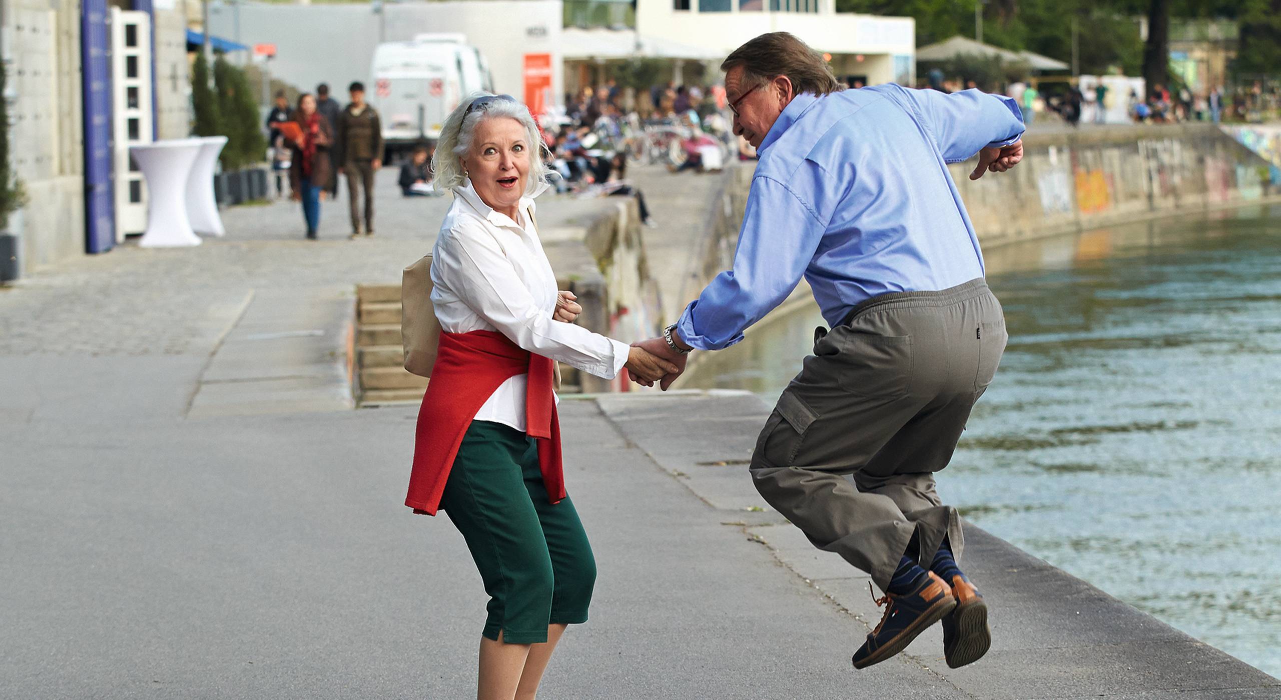
<path id="1" fill-rule="evenodd" d="M 1018 105 L 976 90 L 843 90 L 784 32 L 721 69 L 734 133 L 760 154 L 734 269 L 642 346 L 683 370 L 690 349 L 742 340 L 804 276 L 831 330 L 815 333 L 766 421 L 752 479 L 816 546 L 885 591 L 856 668 L 939 621 L 948 664 L 972 663 L 991 644 L 988 610 L 957 567 L 961 526 L 934 472 L 997 371 L 1006 322 L 947 164 L 977 152 L 971 179 L 1015 166 Z"/>

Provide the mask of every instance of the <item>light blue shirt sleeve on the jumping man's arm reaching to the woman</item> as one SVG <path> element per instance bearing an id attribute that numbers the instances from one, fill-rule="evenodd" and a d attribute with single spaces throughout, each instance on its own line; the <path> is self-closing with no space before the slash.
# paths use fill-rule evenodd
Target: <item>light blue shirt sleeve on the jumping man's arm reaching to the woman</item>
<path id="1" fill-rule="evenodd" d="M 696 349 L 721 349 L 743 339 L 796 289 L 826 225 L 812 205 L 787 184 L 763 175 L 752 180 L 734 269 L 716 275 L 685 307 L 676 329 Z"/>

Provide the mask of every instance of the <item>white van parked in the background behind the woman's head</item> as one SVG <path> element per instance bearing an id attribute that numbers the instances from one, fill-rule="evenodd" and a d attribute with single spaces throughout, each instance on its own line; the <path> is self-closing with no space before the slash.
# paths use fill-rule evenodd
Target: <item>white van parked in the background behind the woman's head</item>
<path id="1" fill-rule="evenodd" d="M 439 138 L 441 124 L 464 96 L 493 92 L 489 65 L 464 35 L 379 44 L 370 73 L 370 102 L 382 116 L 389 157 L 418 141 Z"/>

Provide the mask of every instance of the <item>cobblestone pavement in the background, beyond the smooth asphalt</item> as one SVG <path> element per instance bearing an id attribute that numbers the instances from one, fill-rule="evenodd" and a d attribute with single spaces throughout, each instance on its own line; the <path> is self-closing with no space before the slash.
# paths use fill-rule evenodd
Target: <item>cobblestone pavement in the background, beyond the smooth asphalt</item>
<path id="1" fill-rule="evenodd" d="M 685 270 L 717 178 L 644 168 L 633 175 L 658 223 L 646 229 L 646 241 L 651 269 L 666 289 L 665 278 Z M 343 187 L 337 201 L 323 205 L 319 241 L 304 239 L 296 202 L 229 207 L 224 238 L 205 238 L 193 248 L 140 248 L 131 239 L 110 253 L 0 288 L 0 356 L 209 354 L 255 289 L 398 282 L 401 267 L 430 250 L 451 201 L 401 197 L 395 169 L 384 169 L 377 183 L 377 233 L 350 241 L 346 197 Z M 548 193 L 539 207 L 539 223 L 550 228 L 593 205 Z"/>

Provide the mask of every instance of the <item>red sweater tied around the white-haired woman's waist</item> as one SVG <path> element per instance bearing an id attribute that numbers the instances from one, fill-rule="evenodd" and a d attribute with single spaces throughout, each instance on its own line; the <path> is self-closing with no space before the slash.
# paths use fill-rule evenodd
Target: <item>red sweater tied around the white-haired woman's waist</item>
<path id="1" fill-rule="evenodd" d="M 501 333 L 473 330 L 441 333 L 432 380 L 418 411 L 414 468 L 409 476 L 405 505 L 415 513 L 436 514 L 462 435 L 477 411 L 503 381 L 521 374 L 529 375 L 525 433 L 538 444 L 538 465 L 547 499 L 559 503 L 565 498 L 560 420 L 552 393 L 553 361 L 521 349 Z"/>

